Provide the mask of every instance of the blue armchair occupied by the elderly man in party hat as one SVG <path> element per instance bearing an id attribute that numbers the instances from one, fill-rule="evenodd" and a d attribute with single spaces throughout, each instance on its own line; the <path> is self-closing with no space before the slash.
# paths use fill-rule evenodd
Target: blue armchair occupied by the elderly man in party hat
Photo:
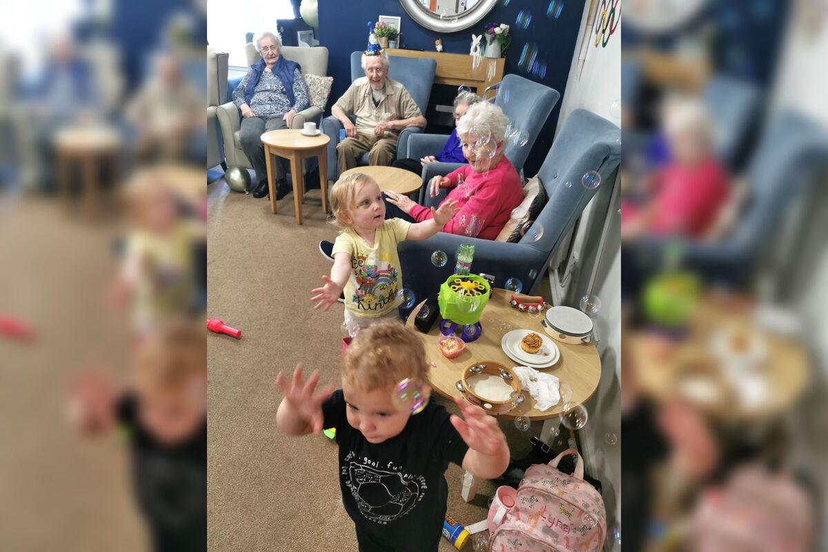
<path id="1" fill-rule="evenodd" d="M 360 65 L 362 55 L 362 52 L 351 52 L 351 82 L 365 76 L 362 65 Z M 417 107 L 420 108 L 420 113 L 425 117 L 428 98 L 431 96 L 431 85 L 434 84 L 434 72 L 437 69 L 436 60 L 398 57 L 396 55 L 389 55 L 388 60 L 391 62 L 390 67 L 388 67 L 388 76 L 406 87 L 408 94 L 411 94 Z M 351 120 L 354 120 L 353 115 Z M 330 137 L 330 142 L 328 142 L 328 180 L 336 180 L 339 177 L 336 145 L 339 144 L 339 131 L 341 129 L 342 123 L 334 116 L 322 120 L 321 130 Z M 422 132 L 422 129 L 408 127 L 400 132 L 397 152 L 400 151 L 400 144 L 407 142 L 408 137 L 417 132 Z M 398 153 L 397 157 L 399 157 Z M 360 158 L 359 165 L 368 165 L 367 153 Z"/>

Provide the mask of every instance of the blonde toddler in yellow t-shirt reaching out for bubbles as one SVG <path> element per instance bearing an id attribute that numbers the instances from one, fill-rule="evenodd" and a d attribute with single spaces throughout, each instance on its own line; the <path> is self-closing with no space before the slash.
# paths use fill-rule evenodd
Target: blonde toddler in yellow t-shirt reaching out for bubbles
<path id="1" fill-rule="evenodd" d="M 402 274 L 397 242 L 430 238 L 457 213 L 456 201 L 431 208 L 434 218 L 409 223 L 385 220 L 385 203 L 379 185 L 363 173 L 347 175 L 330 190 L 330 207 L 342 233 L 336 238 L 334 266 L 325 285 L 312 291 L 315 309 L 330 309 L 344 290 L 345 323 L 363 328 L 397 315 L 402 298 Z"/>

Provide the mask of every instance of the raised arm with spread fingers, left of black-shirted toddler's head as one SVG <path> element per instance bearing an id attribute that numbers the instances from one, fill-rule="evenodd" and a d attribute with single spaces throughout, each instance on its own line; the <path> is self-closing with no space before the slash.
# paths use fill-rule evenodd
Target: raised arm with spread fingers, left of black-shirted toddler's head
<path id="1" fill-rule="evenodd" d="M 279 372 L 276 385 L 282 390 L 282 402 L 276 413 L 276 426 L 279 431 L 289 435 L 319 434 L 322 430 L 322 403 L 334 391 L 327 386 L 323 391 L 316 391 L 319 383 L 319 371 L 315 370 L 308 381 L 302 383 L 302 365 L 296 365 L 290 383 Z"/>

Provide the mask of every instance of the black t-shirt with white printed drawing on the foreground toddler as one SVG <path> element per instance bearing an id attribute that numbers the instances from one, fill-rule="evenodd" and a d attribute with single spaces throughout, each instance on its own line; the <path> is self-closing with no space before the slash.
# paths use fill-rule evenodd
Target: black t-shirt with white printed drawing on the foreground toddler
<path id="1" fill-rule="evenodd" d="M 443 527 L 450 462 L 469 449 L 445 408 L 430 401 L 392 439 L 368 443 L 348 423 L 341 390 L 322 405 L 325 427 L 336 428 L 339 487 L 357 534 L 394 550 L 436 550 Z"/>

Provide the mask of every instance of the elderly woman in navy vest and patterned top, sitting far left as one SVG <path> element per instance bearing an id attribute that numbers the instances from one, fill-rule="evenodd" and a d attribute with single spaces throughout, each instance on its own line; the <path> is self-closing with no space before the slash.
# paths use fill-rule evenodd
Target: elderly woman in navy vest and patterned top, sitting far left
<path id="1" fill-rule="evenodd" d="M 242 113 L 239 133 L 242 150 L 253 163 L 256 181 L 253 197 L 267 195 L 267 164 L 260 137 L 264 132 L 290 128 L 296 113 L 308 108 L 308 87 L 301 67 L 288 61 L 279 50 L 282 38 L 277 33 L 262 32 L 253 40 L 262 59 L 251 65 L 248 74 L 233 91 L 233 103 Z M 287 182 L 287 161 L 276 158 L 276 199 L 282 199 L 290 190 Z"/>

